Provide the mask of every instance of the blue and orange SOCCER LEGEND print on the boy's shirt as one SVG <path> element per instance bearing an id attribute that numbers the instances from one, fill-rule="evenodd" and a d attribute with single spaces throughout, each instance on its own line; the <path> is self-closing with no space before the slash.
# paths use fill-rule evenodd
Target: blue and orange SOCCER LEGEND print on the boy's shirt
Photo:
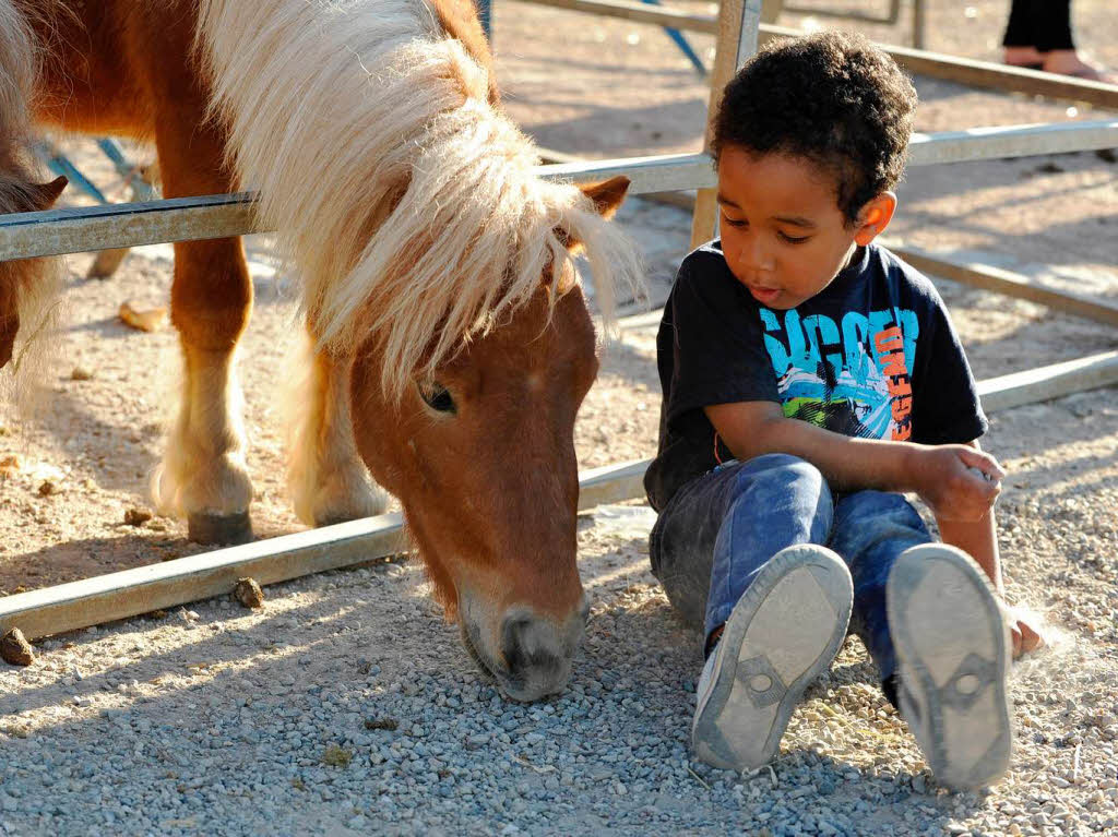
<path id="1" fill-rule="evenodd" d="M 783 315 L 783 317 L 781 317 Z M 920 325 L 907 308 L 824 314 L 760 308 L 784 415 L 871 439 L 912 435 L 912 387 Z"/>

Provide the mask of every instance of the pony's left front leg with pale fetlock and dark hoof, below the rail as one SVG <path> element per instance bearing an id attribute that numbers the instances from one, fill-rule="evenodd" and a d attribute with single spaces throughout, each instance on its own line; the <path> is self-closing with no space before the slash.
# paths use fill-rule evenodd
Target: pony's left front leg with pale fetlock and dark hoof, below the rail
<path id="1" fill-rule="evenodd" d="M 253 284 L 239 238 L 174 246 L 171 321 L 182 346 L 182 401 L 152 478 L 164 513 L 187 519 L 191 541 L 253 538 L 241 398 L 234 369 Z"/>

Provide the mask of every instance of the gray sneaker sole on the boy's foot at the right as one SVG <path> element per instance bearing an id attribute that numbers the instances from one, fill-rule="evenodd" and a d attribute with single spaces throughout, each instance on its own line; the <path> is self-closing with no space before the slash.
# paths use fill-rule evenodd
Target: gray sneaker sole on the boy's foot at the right
<path id="1" fill-rule="evenodd" d="M 931 771 L 955 790 L 999 779 L 1013 729 L 1008 627 L 989 581 L 961 550 L 906 550 L 885 584 L 898 703 Z"/>

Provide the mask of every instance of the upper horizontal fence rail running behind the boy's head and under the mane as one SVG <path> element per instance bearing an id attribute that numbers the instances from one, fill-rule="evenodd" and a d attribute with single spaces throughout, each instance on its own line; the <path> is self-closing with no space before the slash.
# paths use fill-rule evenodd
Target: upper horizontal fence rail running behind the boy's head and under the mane
<path id="1" fill-rule="evenodd" d="M 1107 148 L 1118 148 L 1118 120 L 979 127 L 916 134 L 909 165 Z M 705 154 L 559 163 L 538 171 L 549 179 L 581 183 L 625 174 L 633 181 L 632 194 L 709 189 L 717 183 Z M 271 231 L 256 223 L 254 201 L 252 193 L 240 192 L 0 216 L 0 261 Z"/>

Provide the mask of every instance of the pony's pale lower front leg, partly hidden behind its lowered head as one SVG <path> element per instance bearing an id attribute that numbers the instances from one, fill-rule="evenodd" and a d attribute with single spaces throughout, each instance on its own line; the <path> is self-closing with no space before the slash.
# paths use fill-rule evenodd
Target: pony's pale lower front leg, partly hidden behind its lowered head
<path id="1" fill-rule="evenodd" d="M 350 417 L 351 358 L 314 352 L 310 341 L 303 392 L 292 399 L 287 487 L 304 523 L 332 523 L 381 514 L 385 492 L 366 472 Z"/>

